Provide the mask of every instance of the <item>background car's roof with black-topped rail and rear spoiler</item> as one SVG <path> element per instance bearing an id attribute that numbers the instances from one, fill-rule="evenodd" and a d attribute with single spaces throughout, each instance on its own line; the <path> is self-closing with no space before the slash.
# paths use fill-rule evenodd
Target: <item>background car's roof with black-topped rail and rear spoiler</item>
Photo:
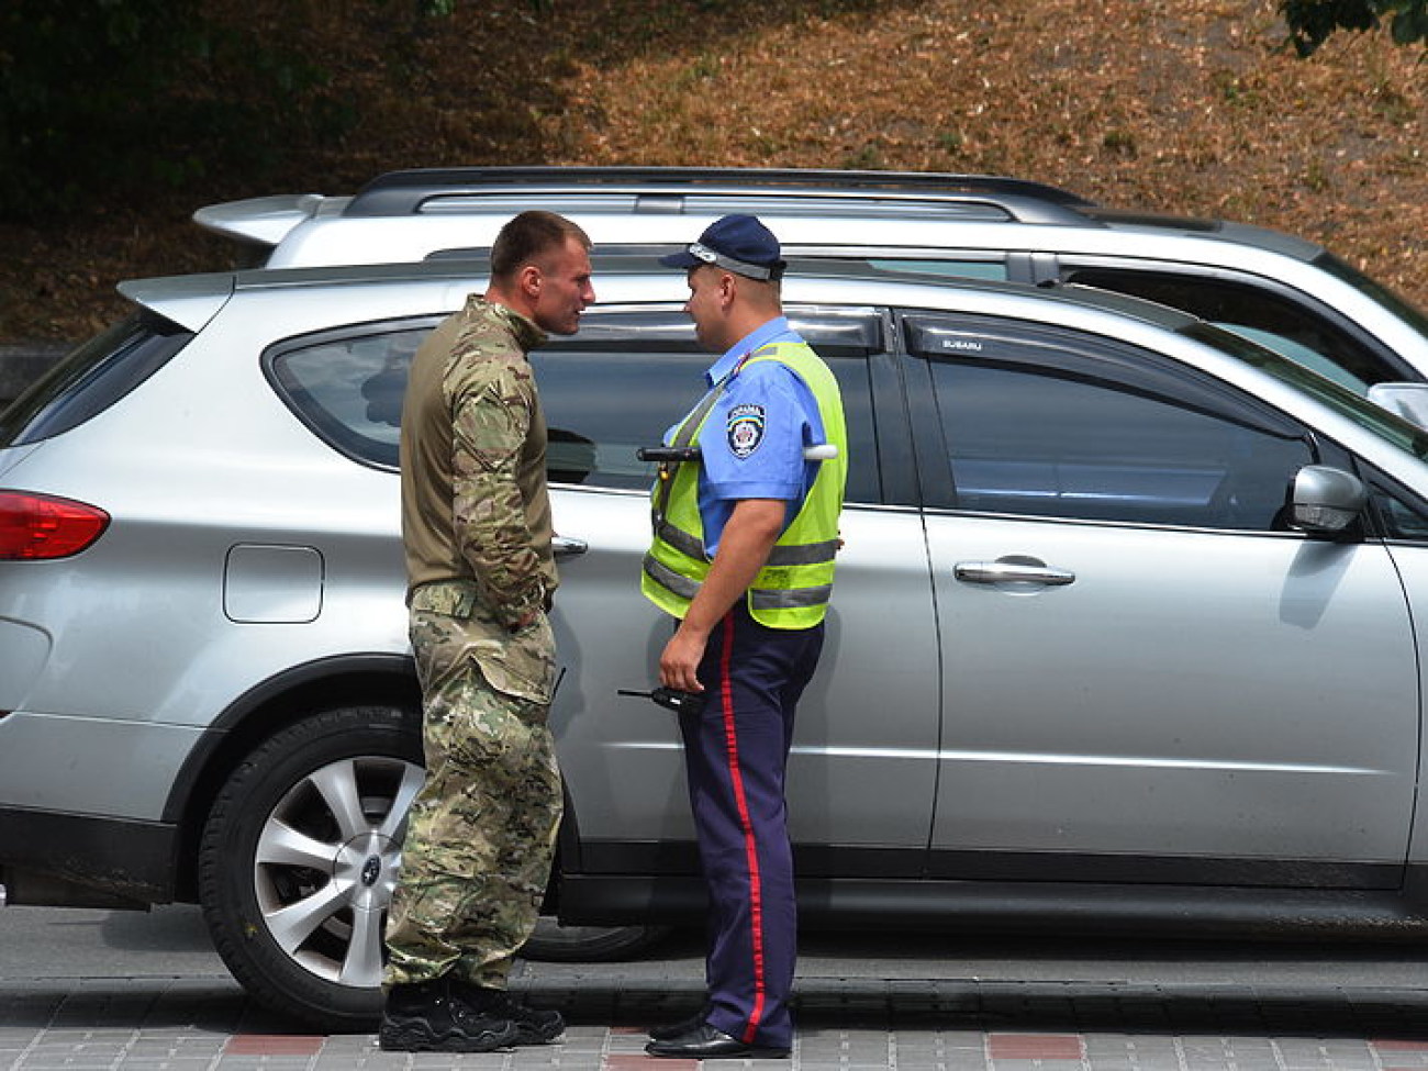
<path id="1" fill-rule="evenodd" d="M 501 223 L 526 208 L 565 213 L 597 244 L 680 238 L 685 231 L 688 240 L 707 221 L 745 211 L 780 220 L 775 227 L 785 248 L 808 256 L 827 254 L 830 241 L 881 244 L 895 256 L 947 256 L 962 241 L 994 251 L 1114 254 L 1125 251 L 1121 243 L 1134 236 L 1142 243 L 1140 256 L 1155 256 L 1155 243 L 1164 238 L 1202 238 L 1304 261 L 1322 253 L 1302 238 L 1248 224 L 1102 208 L 1042 183 L 904 171 L 408 170 L 380 176 L 354 196 L 254 197 L 206 206 L 193 218 L 266 250 L 260 254 L 274 267 L 296 267 L 420 260 L 447 247 L 488 244 Z M 1164 256 L 1224 264 L 1237 254 L 1181 247 Z"/>

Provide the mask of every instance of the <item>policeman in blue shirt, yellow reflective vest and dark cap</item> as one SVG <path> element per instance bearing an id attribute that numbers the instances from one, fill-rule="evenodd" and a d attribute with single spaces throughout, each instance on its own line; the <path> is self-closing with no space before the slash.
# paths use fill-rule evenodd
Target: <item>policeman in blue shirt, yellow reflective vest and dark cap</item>
<path id="1" fill-rule="evenodd" d="M 793 1048 L 797 928 L 784 770 L 840 545 L 843 403 L 783 316 L 784 261 L 763 223 L 725 216 L 663 263 L 685 270 L 685 311 L 723 354 L 704 398 L 665 436 L 698 460 L 665 464 L 655 481 L 641 578 L 678 618 L 660 683 L 707 698 L 680 714 L 680 731 L 711 932 L 705 1008 L 651 1030 L 645 1051 L 781 1057 Z"/>

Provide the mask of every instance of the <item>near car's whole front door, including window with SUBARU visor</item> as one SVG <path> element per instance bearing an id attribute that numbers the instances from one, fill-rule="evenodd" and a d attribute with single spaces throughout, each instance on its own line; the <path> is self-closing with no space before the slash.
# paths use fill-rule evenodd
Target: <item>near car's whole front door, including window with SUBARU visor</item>
<path id="1" fill-rule="evenodd" d="M 944 667 L 931 873 L 1394 885 L 1412 628 L 1381 544 L 1285 530 L 1312 436 L 1110 338 L 905 327 Z"/>

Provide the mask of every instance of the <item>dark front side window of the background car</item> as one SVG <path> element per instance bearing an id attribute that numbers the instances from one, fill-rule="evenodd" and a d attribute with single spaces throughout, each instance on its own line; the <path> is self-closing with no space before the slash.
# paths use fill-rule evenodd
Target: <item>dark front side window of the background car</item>
<path id="1" fill-rule="evenodd" d="M 1327 311 L 1267 287 L 1180 271 L 1121 267 L 1067 267 L 1062 278 L 1184 310 L 1217 327 L 1237 331 L 1357 394 L 1367 394 L 1375 383 L 1418 378 L 1397 358 L 1374 350 L 1334 323 Z"/>

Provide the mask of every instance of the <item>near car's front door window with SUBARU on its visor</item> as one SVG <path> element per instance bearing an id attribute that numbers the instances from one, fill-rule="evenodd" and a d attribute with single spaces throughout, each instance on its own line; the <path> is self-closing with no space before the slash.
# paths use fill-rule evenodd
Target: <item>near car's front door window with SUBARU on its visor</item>
<path id="1" fill-rule="evenodd" d="M 1274 531 L 1314 460 L 1292 421 L 1111 340 L 951 324 L 912 337 L 957 510 Z"/>

